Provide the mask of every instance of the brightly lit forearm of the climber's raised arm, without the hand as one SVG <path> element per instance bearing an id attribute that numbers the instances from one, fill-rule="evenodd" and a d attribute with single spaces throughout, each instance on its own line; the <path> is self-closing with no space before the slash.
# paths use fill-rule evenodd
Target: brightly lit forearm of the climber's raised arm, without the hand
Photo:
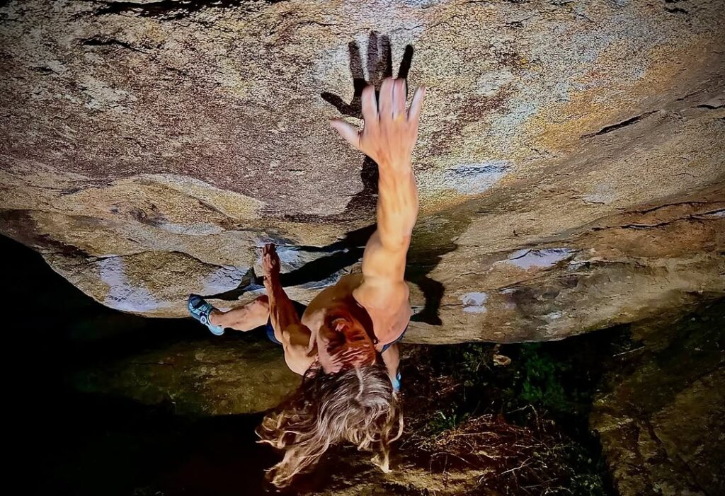
<path id="1" fill-rule="evenodd" d="M 418 219 L 418 187 L 410 162 L 379 164 L 378 232 L 385 248 L 400 249 L 410 244 Z"/>

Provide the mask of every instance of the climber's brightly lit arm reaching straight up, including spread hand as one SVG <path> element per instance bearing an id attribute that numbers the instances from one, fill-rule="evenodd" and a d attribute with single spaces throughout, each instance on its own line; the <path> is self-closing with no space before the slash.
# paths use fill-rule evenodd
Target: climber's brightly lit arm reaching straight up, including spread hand
<path id="1" fill-rule="evenodd" d="M 418 189 L 410 161 L 424 96 L 425 88 L 418 88 L 406 112 L 405 80 L 387 78 L 379 105 L 373 86 L 363 91 L 362 131 L 341 120 L 332 123 L 343 138 L 378 164 L 378 230 L 365 246 L 363 284 L 355 293 L 358 300 L 376 307 L 394 306 L 391 298 L 400 295 L 407 299 L 405 257 L 418 217 Z"/>

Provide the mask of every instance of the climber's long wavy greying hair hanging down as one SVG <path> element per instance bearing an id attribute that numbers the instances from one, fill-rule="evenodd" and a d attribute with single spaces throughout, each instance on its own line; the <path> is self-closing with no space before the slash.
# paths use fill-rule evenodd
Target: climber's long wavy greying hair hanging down
<path id="1" fill-rule="evenodd" d="M 259 442 L 284 450 L 268 479 L 284 487 L 312 469 L 328 447 L 349 441 L 375 452 L 373 463 L 389 471 L 390 444 L 402 434 L 400 399 L 382 363 L 325 374 L 311 367 L 297 391 L 262 420 Z"/>

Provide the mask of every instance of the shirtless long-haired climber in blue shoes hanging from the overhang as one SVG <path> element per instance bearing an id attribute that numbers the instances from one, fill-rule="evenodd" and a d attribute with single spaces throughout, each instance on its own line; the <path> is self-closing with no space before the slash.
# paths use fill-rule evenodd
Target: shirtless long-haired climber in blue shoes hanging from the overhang
<path id="1" fill-rule="evenodd" d="M 303 376 L 297 392 L 262 421 L 260 442 L 286 451 L 270 470 L 273 484 L 289 484 L 336 442 L 375 450 L 388 471 L 389 444 L 402 433 L 395 344 L 407 329 L 411 309 L 403 280 L 410 235 L 418 217 L 418 190 L 411 154 L 425 88 L 406 111 L 404 79 L 383 81 L 378 98 L 362 94 L 364 127 L 341 119 L 331 125 L 378 164 L 377 230 L 365 245 L 362 273 L 342 277 L 305 308 L 284 292 L 274 245 L 262 251 L 267 295 L 223 312 L 197 295 L 188 308 L 216 335 L 225 327 L 247 331 L 267 324 L 289 368 Z"/>

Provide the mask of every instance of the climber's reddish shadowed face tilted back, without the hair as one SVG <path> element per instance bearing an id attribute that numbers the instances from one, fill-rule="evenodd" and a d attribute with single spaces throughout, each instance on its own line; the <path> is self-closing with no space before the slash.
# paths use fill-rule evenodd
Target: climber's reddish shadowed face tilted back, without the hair
<path id="1" fill-rule="evenodd" d="M 326 310 L 317 333 L 318 361 L 326 374 L 376 363 L 373 322 L 355 301 Z"/>

